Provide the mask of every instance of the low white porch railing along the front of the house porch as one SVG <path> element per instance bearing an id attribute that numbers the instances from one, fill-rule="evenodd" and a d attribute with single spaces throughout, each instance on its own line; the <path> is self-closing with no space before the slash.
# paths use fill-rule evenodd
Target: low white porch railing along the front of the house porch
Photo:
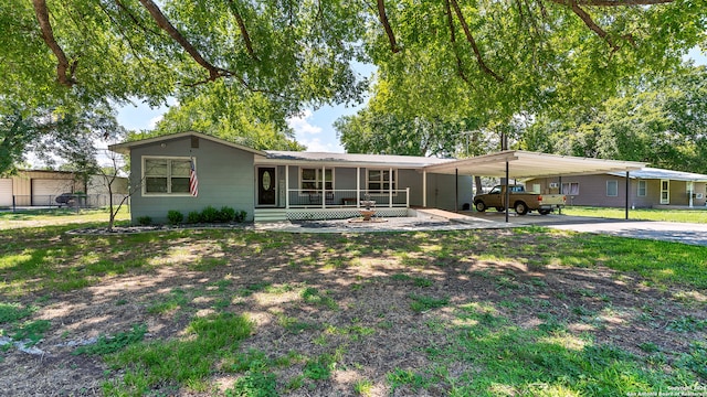
<path id="1" fill-rule="evenodd" d="M 303 190 L 287 192 L 288 208 L 356 208 L 362 200 L 376 202 L 377 207 L 409 207 L 410 187 L 384 191 L 363 190 Z"/>

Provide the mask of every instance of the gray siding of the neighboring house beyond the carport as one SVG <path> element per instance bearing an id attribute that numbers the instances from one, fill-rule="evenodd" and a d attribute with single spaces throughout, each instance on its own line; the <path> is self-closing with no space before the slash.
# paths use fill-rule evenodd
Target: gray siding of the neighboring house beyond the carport
<path id="1" fill-rule="evenodd" d="M 606 195 L 606 181 L 616 181 L 619 195 Z M 661 181 L 659 180 L 641 180 L 646 182 L 645 196 L 639 196 L 639 181 L 632 179 L 629 187 L 629 205 L 636 208 L 650 208 L 661 204 Z M 526 182 L 528 189 L 532 189 L 532 184 L 540 184 L 541 193 L 559 193 L 559 189 L 550 189 L 550 183 L 560 183 L 559 178 L 534 179 Z M 563 176 L 562 183 L 579 183 L 579 194 L 567 194 L 567 205 L 591 205 L 603 207 L 623 207 L 626 202 L 626 179 L 625 176 L 614 175 L 582 175 L 582 176 Z M 671 203 L 669 205 L 688 205 L 689 197 L 687 195 L 687 182 L 671 181 Z M 695 183 L 695 193 L 701 193 L 703 198 L 693 200 L 694 206 L 705 205 L 705 183 Z"/>

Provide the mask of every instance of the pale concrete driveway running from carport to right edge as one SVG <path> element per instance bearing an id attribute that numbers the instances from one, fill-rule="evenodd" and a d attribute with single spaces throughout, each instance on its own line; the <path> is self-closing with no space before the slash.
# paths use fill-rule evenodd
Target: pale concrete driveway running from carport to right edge
<path id="1" fill-rule="evenodd" d="M 466 215 L 487 221 L 505 221 L 504 213 L 466 213 Z M 525 216 L 509 214 L 508 221 L 509 223 L 513 223 L 515 225 L 538 225 L 560 230 L 597 233 L 611 236 L 655 239 L 707 246 L 707 224 L 606 219 L 558 214 L 528 214 Z"/>

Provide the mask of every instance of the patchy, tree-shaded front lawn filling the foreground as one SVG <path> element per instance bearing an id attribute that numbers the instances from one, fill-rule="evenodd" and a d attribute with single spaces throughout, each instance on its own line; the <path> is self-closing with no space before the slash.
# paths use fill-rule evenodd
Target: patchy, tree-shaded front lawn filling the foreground
<path id="1" fill-rule="evenodd" d="M 707 383 L 705 247 L 538 227 L 66 229 L 0 232 L 0 332 L 51 357 L 0 346 L 11 395 L 626 396 Z"/>

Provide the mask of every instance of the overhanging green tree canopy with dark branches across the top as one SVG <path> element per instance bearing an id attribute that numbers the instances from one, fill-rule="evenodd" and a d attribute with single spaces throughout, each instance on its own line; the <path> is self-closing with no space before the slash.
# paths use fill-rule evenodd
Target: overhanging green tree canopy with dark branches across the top
<path id="1" fill-rule="evenodd" d="M 10 1 L 0 75 L 15 84 L 0 101 L 155 105 L 225 82 L 281 118 L 360 99 L 366 79 L 350 65 L 370 62 L 407 120 L 509 122 L 675 67 L 705 44 L 705 10 L 706 0 Z"/>

